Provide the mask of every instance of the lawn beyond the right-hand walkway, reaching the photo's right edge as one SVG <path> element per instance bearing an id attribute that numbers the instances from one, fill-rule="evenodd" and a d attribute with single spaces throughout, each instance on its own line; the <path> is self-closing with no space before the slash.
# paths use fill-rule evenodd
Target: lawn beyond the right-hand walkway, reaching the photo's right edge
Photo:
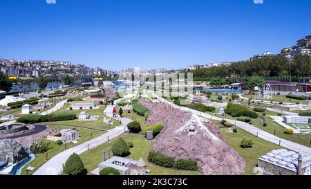
<path id="1" fill-rule="evenodd" d="M 281 125 L 272 121 L 272 118 L 265 117 L 267 127 L 263 127 L 263 124 L 255 125 L 256 127 L 263 129 L 270 134 L 274 134 L 274 130 L 276 132 L 276 136 L 280 138 L 284 138 L 285 140 L 292 141 L 294 143 L 299 143 L 301 145 L 310 146 L 311 134 L 285 134 Z"/>

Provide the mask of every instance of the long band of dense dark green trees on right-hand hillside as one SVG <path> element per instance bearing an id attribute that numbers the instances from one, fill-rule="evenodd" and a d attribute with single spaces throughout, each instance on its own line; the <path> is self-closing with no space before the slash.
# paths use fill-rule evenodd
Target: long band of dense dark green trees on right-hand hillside
<path id="1" fill-rule="evenodd" d="M 187 70 L 187 72 L 190 72 Z M 284 77 L 291 76 L 293 80 L 311 76 L 311 57 L 295 55 L 293 60 L 281 55 L 262 59 L 234 62 L 230 65 L 213 66 L 210 68 L 191 71 L 196 80 L 210 80 L 211 78 L 239 78 L 239 77 Z"/>

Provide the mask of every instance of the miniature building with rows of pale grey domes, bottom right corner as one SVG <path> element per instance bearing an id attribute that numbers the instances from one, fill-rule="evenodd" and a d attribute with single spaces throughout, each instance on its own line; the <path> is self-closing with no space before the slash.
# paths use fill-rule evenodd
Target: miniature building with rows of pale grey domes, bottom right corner
<path id="1" fill-rule="evenodd" d="M 311 175 L 310 165 L 311 156 L 285 149 L 272 150 L 258 158 L 258 168 L 270 175 Z"/>

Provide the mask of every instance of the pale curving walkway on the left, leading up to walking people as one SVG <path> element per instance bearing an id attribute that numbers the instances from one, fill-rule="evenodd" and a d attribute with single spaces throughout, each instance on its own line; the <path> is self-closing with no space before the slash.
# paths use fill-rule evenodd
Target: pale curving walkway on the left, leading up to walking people
<path id="1" fill-rule="evenodd" d="M 115 100 L 115 103 L 119 102 L 122 99 Z M 104 110 L 104 114 L 106 116 L 112 117 L 112 109 L 113 106 L 109 105 Z M 92 149 L 93 147 L 97 147 L 98 145 L 102 145 L 106 143 L 109 139 L 111 141 L 113 138 L 124 134 L 126 131 L 126 125 L 130 123 L 132 120 L 129 118 L 120 118 L 122 125 L 117 126 L 109 132 L 98 136 L 97 138 L 93 138 L 90 141 L 86 141 L 80 145 L 76 145 L 75 147 L 71 147 L 68 150 L 65 150 L 53 158 L 49 159 L 44 165 L 42 165 L 37 171 L 34 172 L 33 175 L 57 175 L 62 173 L 62 166 L 66 163 L 68 157 L 73 154 L 82 154 L 86 152 L 88 149 Z"/>

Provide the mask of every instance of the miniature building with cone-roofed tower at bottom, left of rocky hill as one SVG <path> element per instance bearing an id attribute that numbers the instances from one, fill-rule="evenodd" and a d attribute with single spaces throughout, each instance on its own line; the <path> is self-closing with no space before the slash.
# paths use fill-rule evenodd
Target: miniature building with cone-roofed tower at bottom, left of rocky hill
<path id="1" fill-rule="evenodd" d="M 106 152 L 103 151 L 103 162 L 100 163 L 98 168 L 98 174 L 102 168 L 115 168 L 119 170 L 120 175 L 147 175 L 147 165 L 144 160 L 140 158 L 139 161 L 133 161 L 132 159 L 123 158 L 120 156 L 110 157 L 110 150 L 107 150 L 108 157 L 106 159 Z"/>

